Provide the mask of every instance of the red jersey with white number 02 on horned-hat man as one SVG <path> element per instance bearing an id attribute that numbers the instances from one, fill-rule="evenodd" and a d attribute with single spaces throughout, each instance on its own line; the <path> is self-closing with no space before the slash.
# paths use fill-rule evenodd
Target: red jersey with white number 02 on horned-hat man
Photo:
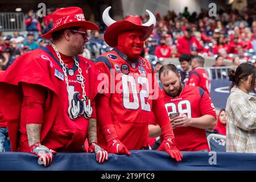
<path id="1" fill-rule="evenodd" d="M 150 62 L 139 57 L 135 63 L 129 63 L 127 56 L 114 48 L 96 59 L 96 67 L 102 73 L 99 76 L 105 75 L 104 80 L 110 83 L 101 86 L 103 94 L 109 98 L 112 121 L 119 140 L 128 150 L 147 147 L 148 121 L 155 101 L 152 99 L 161 93 L 152 76 L 154 70 Z M 106 148 L 100 126 L 97 125 L 97 128 L 98 144 Z"/>

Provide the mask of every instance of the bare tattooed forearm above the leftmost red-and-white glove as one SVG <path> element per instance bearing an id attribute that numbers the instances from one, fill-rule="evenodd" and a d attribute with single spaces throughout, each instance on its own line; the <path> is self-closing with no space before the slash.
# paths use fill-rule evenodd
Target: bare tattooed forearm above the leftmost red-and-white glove
<path id="1" fill-rule="evenodd" d="M 28 145 L 32 146 L 34 143 L 40 143 L 41 124 L 27 124 L 27 138 Z"/>

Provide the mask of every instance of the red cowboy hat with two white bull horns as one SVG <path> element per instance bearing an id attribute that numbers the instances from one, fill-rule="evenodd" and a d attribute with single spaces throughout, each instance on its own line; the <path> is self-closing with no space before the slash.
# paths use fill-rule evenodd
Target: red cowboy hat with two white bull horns
<path id="1" fill-rule="evenodd" d="M 110 9 L 111 6 L 104 10 L 102 14 L 102 19 L 106 26 L 108 26 L 104 34 L 104 40 L 111 47 L 117 46 L 118 34 L 123 31 L 141 30 L 144 34 L 143 40 L 146 40 L 148 36 L 150 36 L 156 24 L 155 16 L 148 10 L 146 11 L 150 15 L 150 19 L 147 23 L 142 24 L 141 18 L 139 18 L 139 16 L 132 15 L 126 16 L 125 19 L 118 20 L 116 22 L 109 16 Z"/>

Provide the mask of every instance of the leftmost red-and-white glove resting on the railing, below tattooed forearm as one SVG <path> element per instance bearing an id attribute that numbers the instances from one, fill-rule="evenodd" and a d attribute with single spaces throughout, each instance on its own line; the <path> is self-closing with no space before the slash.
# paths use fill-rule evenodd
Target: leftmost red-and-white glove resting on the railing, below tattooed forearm
<path id="1" fill-rule="evenodd" d="M 40 143 L 35 143 L 31 147 L 31 153 L 38 156 L 38 164 L 48 167 L 52 164 L 53 155 L 57 154 L 56 151 L 43 146 Z"/>

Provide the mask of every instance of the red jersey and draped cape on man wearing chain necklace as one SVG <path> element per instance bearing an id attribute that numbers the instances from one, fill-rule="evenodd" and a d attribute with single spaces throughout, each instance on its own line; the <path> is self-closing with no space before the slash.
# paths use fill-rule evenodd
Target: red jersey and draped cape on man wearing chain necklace
<path id="1" fill-rule="evenodd" d="M 9 70 L 6 71 L 9 74 L 13 74 L 13 78 L 6 75 L 4 81 L 12 85 L 16 84 L 16 82 L 26 82 L 28 84 L 41 85 L 46 88 L 47 97 L 44 105 L 40 143 L 56 151 L 80 152 L 82 151 L 82 146 L 87 137 L 88 119 L 86 119 L 84 115 L 77 117 L 75 120 L 69 118 L 69 100 L 64 73 L 53 48 L 47 47 L 47 49 L 49 52 L 43 51 L 42 49 L 36 49 L 35 51 L 31 51 L 19 57 Z M 51 55 L 53 55 L 54 58 Z M 72 57 L 61 54 L 61 58 L 67 69 L 69 91 L 74 95 L 72 98 L 74 98 L 75 102 L 81 101 L 82 89 L 80 83 L 83 81 L 86 96 L 90 98 L 92 105 L 94 105 L 94 97 L 97 93 L 96 81 L 98 72 L 93 62 L 81 56 L 76 57 L 79 61 L 79 67 L 82 69 L 83 78 L 81 78 Z M 20 72 L 17 72 L 16 70 L 20 70 Z M 18 88 L 16 89 L 16 93 L 19 93 Z M 27 105 L 22 98 L 20 99 L 20 102 L 22 103 L 16 104 L 16 108 L 13 110 L 13 112 L 20 111 L 20 114 L 14 114 L 19 115 L 18 128 L 20 136 L 16 138 L 19 139 L 19 144 L 15 147 L 16 141 L 13 140 L 12 150 L 30 152 L 26 133 Z M 10 102 L 10 105 L 13 104 Z M 83 106 L 81 105 L 82 104 L 80 104 L 80 109 Z M 20 108 L 18 106 L 20 106 Z M 95 111 L 94 108 L 93 110 Z M 93 117 L 96 118 L 95 113 L 93 114 Z M 10 130 L 10 135 L 14 136 L 13 127 L 11 127 Z M 11 140 L 12 138 L 15 138 L 15 136 L 11 136 Z"/>

